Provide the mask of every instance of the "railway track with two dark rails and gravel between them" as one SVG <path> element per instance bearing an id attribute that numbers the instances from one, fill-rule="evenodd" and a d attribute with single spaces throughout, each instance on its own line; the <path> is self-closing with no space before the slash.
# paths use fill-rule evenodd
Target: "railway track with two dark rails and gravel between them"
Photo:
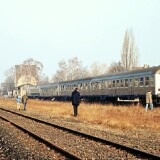
<path id="1" fill-rule="evenodd" d="M 0 108 L 0 117 L 68 159 L 160 159 L 160 156 Z M 29 125 L 28 125 L 29 124 Z"/>

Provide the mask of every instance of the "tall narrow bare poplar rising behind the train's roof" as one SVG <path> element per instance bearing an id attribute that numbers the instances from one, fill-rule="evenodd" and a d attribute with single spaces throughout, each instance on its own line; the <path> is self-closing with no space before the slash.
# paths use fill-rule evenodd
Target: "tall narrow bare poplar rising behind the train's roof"
<path id="1" fill-rule="evenodd" d="M 138 50 L 135 46 L 133 31 L 126 30 L 121 52 L 121 65 L 124 70 L 134 70 L 138 67 Z"/>

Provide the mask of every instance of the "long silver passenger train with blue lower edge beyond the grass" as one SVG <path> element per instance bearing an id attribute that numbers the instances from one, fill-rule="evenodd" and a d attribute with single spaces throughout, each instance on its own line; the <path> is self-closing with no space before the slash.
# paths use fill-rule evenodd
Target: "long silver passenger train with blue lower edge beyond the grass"
<path id="1" fill-rule="evenodd" d="M 103 102 L 145 102 L 150 90 L 153 102 L 160 104 L 160 66 L 29 87 L 27 94 L 29 98 L 70 100 L 74 87 L 81 99 Z"/>

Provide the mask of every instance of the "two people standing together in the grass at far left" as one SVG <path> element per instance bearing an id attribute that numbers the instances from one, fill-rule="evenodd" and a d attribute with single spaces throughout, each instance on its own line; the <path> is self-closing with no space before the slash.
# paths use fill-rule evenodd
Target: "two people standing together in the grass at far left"
<path id="1" fill-rule="evenodd" d="M 28 97 L 26 94 L 24 94 L 22 98 L 21 96 L 17 95 L 16 96 L 17 110 L 21 109 L 21 102 L 23 104 L 23 110 L 26 110 L 27 100 L 28 100 Z"/>

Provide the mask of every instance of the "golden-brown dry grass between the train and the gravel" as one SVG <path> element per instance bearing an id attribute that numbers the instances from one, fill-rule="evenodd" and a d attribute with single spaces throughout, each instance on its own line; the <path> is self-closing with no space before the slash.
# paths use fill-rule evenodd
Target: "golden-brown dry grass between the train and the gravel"
<path id="1" fill-rule="evenodd" d="M 0 99 L 0 105 L 16 108 L 14 99 Z M 73 108 L 69 102 L 29 100 L 27 111 L 50 117 L 73 117 Z M 160 131 L 160 107 L 146 112 L 142 106 L 113 106 L 81 103 L 78 112 L 78 119 L 81 121 L 101 124 L 111 128 Z"/>

